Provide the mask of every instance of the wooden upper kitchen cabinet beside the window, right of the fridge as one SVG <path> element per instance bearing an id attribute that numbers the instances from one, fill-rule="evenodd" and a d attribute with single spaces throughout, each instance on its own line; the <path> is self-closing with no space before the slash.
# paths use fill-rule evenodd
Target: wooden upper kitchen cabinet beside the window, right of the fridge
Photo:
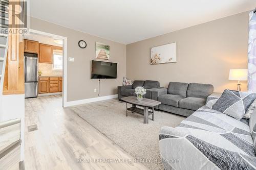
<path id="1" fill-rule="evenodd" d="M 40 44 L 39 62 L 52 64 L 53 47 L 52 45 Z"/>

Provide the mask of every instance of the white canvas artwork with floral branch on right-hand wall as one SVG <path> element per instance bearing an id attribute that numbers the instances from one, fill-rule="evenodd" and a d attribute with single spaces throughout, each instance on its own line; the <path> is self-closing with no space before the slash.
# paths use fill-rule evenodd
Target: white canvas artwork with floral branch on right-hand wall
<path id="1" fill-rule="evenodd" d="M 151 48 L 150 64 L 176 62 L 176 42 Z"/>

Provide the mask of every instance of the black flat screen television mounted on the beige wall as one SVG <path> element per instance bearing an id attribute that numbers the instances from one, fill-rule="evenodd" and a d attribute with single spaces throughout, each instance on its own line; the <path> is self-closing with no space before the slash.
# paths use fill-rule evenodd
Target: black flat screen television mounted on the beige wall
<path id="1" fill-rule="evenodd" d="M 116 79 L 117 63 L 92 60 L 91 79 Z"/>

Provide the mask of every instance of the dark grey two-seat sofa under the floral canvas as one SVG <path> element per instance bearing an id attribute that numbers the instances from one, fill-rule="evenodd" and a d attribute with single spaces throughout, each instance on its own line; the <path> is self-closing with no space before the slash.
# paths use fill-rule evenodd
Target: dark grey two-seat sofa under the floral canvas
<path id="1" fill-rule="evenodd" d="M 154 89 L 151 95 L 162 103 L 156 109 L 188 117 L 205 105 L 212 92 L 211 84 L 170 82 L 168 88 Z"/>

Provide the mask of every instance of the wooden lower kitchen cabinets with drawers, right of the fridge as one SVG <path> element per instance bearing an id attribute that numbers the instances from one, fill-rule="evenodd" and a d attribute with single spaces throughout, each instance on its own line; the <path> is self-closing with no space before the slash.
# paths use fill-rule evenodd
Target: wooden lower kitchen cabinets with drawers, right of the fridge
<path id="1" fill-rule="evenodd" d="M 39 94 L 62 92 L 62 77 L 39 77 L 38 88 Z"/>

